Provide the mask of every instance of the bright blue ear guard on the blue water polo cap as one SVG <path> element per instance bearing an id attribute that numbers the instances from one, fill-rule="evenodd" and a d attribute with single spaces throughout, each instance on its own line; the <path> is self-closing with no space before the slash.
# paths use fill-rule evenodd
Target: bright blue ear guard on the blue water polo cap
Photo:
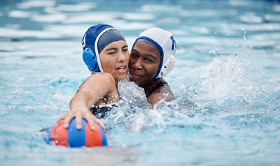
<path id="1" fill-rule="evenodd" d="M 83 62 L 85 62 L 90 71 L 100 72 L 97 56 L 93 53 L 92 49 L 85 48 L 85 50 L 83 50 Z"/>

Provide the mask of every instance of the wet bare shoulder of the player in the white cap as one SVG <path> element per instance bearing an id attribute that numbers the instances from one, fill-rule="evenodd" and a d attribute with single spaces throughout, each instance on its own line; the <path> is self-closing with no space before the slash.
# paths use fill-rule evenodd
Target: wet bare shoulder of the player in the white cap
<path id="1" fill-rule="evenodd" d="M 172 93 L 170 86 L 165 85 L 161 86 L 155 91 L 153 91 L 149 97 L 147 98 L 147 101 L 151 104 L 156 104 L 160 100 L 164 99 L 167 102 L 170 102 L 174 100 L 174 94 Z"/>

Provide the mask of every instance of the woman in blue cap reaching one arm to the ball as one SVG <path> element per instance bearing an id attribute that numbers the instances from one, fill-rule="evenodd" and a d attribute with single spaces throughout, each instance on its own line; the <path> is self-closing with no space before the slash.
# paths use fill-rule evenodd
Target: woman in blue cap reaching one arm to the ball
<path id="1" fill-rule="evenodd" d="M 76 118 L 76 128 L 81 129 L 81 120 L 85 118 L 92 129 L 94 121 L 105 129 L 104 123 L 89 110 L 92 106 L 119 101 L 117 84 L 120 80 L 128 79 L 128 46 L 122 33 L 106 24 L 88 28 L 82 46 L 83 61 L 92 75 L 81 84 L 69 104 L 70 111 L 58 118 L 56 126 L 65 119 L 65 127 L 68 127 L 69 121 Z"/>

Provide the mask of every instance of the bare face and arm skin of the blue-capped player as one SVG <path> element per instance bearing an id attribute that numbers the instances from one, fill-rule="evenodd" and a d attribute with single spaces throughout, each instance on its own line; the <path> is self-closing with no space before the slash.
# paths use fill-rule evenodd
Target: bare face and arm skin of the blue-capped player
<path id="1" fill-rule="evenodd" d="M 98 107 L 100 104 L 120 100 L 117 82 L 124 80 L 129 71 L 127 44 L 124 41 L 108 44 L 99 56 L 104 73 L 94 73 L 81 84 L 69 104 L 70 111 L 56 120 L 56 127 L 61 120 L 65 119 L 64 126 L 67 128 L 70 120 L 76 118 L 76 128 L 81 129 L 81 120 L 85 118 L 91 129 L 95 128 L 94 122 L 105 129 L 104 123 L 90 112 L 90 108 L 92 105 Z"/>

